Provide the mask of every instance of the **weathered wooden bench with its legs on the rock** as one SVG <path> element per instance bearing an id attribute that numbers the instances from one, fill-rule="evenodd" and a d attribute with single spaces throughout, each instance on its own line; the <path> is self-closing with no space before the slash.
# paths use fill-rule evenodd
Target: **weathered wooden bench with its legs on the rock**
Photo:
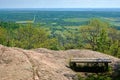
<path id="1" fill-rule="evenodd" d="M 78 65 L 80 64 L 76 64 L 76 63 L 82 63 L 82 64 L 89 64 L 90 68 L 100 68 L 101 64 L 103 65 L 103 71 L 107 71 L 108 70 L 108 63 L 111 63 L 112 60 L 108 59 L 108 58 L 72 58 L 70 60 L 70 67 L 74 70 L 76 70 L 78 67 Z M 89 65 L 87 65 L 89 67 Z M 92 66 L 91 66 L 92 65 Z"/>

